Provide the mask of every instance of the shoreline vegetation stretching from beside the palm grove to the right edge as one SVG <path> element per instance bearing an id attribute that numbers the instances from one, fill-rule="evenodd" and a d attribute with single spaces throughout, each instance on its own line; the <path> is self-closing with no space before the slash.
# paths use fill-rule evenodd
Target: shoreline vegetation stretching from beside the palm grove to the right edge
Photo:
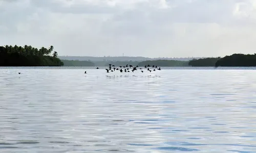
<path id="1" fill-rule="evenodd" d="M 211 57 L 192 59 L 190 61 L 178 61 L 178 60 L 146 60 L 146 61 L 74 61 L 74 60 L 62 60 L 64 66 L 109 66 L 109 64 L 120 66 L 120 65 L 134 65 L 134 66 L 145 66 L 145 65 L 157 65 L 162 67 L 218 67 L 218 66 L 256 66 L 256 54 L 244 55 L 244 54 L 233 54 L 230 56 Z"/>

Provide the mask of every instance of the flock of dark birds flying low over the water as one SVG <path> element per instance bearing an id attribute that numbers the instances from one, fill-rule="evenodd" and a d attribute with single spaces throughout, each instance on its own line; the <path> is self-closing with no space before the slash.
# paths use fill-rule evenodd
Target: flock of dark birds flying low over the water
<path id="1" fill-rule="evenodd" d="M 109 73 L 109 72 L 114 72 L 114 71 L 120 71 L 120 72 L 134 72 L 134 71 L 136 71 L 136 70 L 138 70 L 138 65 L 137 66 L 133 66 L 133 65 L 129 65 L 128 66 L 128 64 L 126 64 L 126 66 L 119 66 L 119 67 L 115 67 L 115 65 L 112 65 L 112 64 L 109 64 L 110 66 L 109 66 L 109 68 L 107 69 L 105 69 L 106 70 L 106 72 L 107 73 Z M 151 68 L 153 68 L 153 69 L 150 69 L 150 67 Z M 155 65 L 153 65 L 153 66 L 150 66 L 150 65 L 145 65 L 144 66 L 144 68 L 147 68 L 146 70 L 147 71 L 156 71 L 156 70 L 161 70 L 161 67 L 157 67 L 157 66 L 155 66 Z M 99 69 L 98 67 L 96 68 L 96 69 Z M 143 73 L 145 70 L 143 70 L 142 68 L 139 68 L 139 70 Z M 87 73 L 87 71 L 85 71 L 84 73 Z"/>

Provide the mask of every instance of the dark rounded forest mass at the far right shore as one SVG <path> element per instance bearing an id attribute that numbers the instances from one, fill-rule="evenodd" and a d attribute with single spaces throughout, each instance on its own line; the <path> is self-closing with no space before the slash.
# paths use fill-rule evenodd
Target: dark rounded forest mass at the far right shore
<path id="1" fill-rule="evenodd" d="M 231 56 L 225 56 L 218 60 L 215 66 L 256 66 L 256 54 L 233 54 Z"/>

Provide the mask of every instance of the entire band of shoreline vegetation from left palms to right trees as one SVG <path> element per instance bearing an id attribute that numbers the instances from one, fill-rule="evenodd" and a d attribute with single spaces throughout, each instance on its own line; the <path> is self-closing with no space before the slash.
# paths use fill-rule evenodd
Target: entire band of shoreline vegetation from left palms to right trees
<path id="1" fill-rule="evenodd" d="M 60 60 L 58 53 L 53 51 L 54 47 L 35 48 L 32 46 L 5 45 L 0 46 L 0 66 L 115 66 L 134 65 L 145 66 L 155 65 L 162 67 L 219 67 L 219 66 L 256 66 L 256 54 L 244 55 L 233 54 L 223 58 L 201 58 L 189 61 L 179 60 L 145 60 L 145 61 L 81 61 L 81 60 Z"/>

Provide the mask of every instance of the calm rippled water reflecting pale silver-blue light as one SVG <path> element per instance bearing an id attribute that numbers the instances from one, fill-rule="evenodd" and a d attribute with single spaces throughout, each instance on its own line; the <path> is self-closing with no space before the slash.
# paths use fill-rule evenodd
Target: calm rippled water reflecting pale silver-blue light
<path id="1" fill-rule="evenodd" d="M 1 68 L 0 152 L 256 152 L 255 76 Z"/>

